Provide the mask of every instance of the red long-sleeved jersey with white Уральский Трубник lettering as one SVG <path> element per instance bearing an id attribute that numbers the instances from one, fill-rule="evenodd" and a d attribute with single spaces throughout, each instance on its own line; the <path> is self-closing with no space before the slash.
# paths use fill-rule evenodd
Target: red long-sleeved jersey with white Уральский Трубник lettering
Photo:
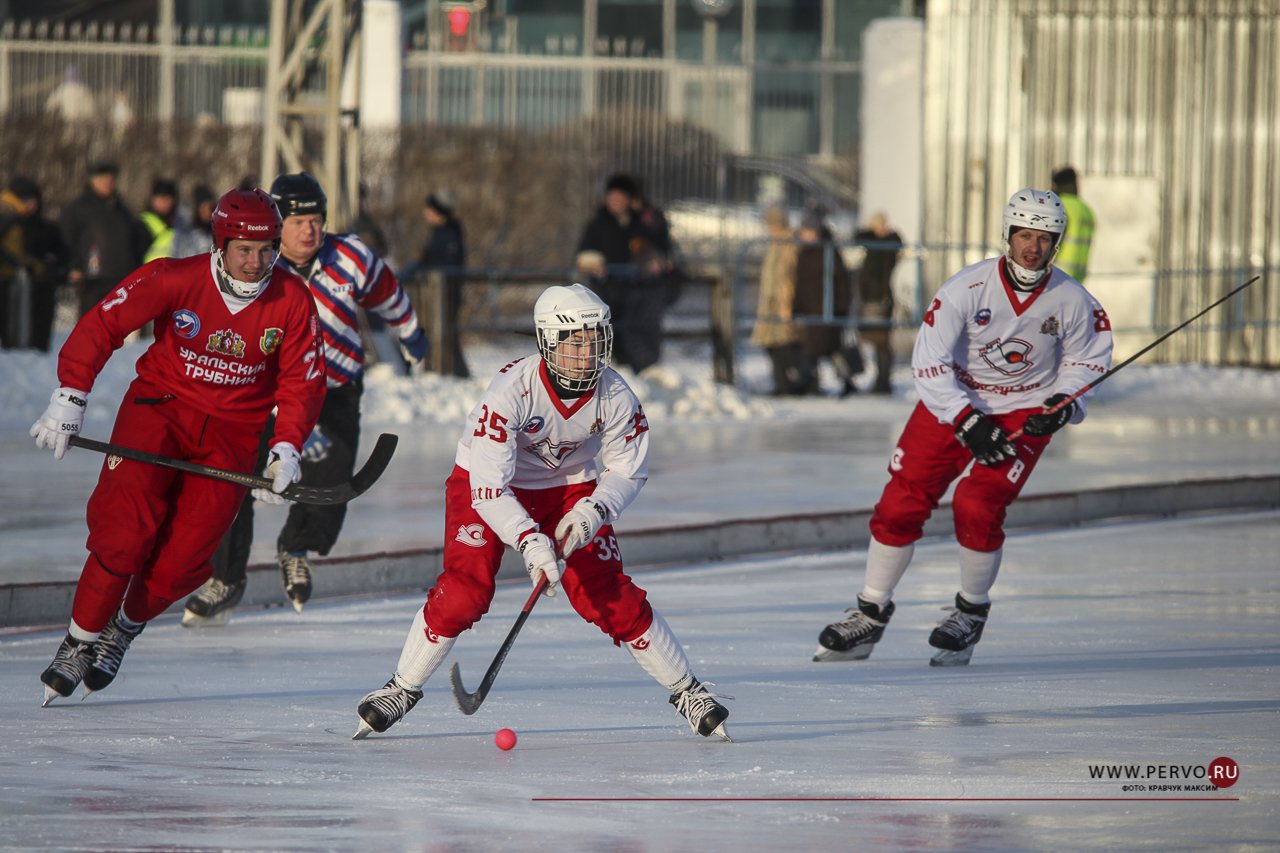
<path id="1" fill-rule="evenodd" d="M 161 257 L 140 266 L 81 318 L 58 356 L 58 380 L 92 391 L 132 332 L 155 324 L 138 377 L 192 409 L 261 429 L 276 407 L 271 443 L 302 447 L 325 394 L 315 302 L 293 273 L 273 268 L 252 300 L 218 287 L 212 255 Z"/>

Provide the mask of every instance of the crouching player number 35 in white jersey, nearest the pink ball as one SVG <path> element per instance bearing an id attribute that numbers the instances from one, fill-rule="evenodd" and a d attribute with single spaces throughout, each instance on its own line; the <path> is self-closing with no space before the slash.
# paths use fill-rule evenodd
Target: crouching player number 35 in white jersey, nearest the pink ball
<path id="1" fill-rule="evenodd" d="M 540 357 L 499 370 L 471 411 L 444 487 L 444 569 L 413 616 L 396 674 L 361 699 L 355 738 L 387 731 L 422 698 L 458 634 L 488 612 L 511 547 L 535 587 L 544 575 L 547 594 L 561 584 L 582 619 L 627 647 L 695 733 L 728 740 L 728 711 L 622 570 L 611 523 L 649 476 L 649 424 L 608 366 L 609 309 L 581 284 L 556 286 L 538 297 L 534 325 Z"/>

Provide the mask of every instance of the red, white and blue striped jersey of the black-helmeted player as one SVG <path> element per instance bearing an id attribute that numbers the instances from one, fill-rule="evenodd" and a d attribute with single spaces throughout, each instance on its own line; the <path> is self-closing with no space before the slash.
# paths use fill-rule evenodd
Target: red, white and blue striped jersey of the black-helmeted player
<path id="1" fill-rule="evenodd" d="M 276 264 L 288 268 L 283 256 Z M 387 320 L 399 338 L 417 329 L 417 315 L 396 274 L 355 234 L 324 236 L 307 284 L 320 315 L 330 387 L 365 371 L 357 306 Z"/>

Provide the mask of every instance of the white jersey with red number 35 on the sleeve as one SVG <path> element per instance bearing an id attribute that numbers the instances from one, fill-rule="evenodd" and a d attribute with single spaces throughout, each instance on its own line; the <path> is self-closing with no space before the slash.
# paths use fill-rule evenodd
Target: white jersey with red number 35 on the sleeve
<path id="1" fill-rule="evenodd" d="M 561 400 L 540 357 L 518 359 L 498 371 L 468 423 L 457 464 L 471 474 L 471 506 L 511 547 L 536 525 L 509 487 L 589 483 L 599 456 L 604 474 L 591 497 L 612 523 L 649 478 L 649 421 L 611 369 L 593 391 Z"/>

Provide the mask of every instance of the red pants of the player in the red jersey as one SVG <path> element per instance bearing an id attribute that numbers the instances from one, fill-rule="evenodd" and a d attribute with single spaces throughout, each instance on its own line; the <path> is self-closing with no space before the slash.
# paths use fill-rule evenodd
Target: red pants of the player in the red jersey
<path id="1" fill-rule="evenodd" d="M 178 400 L 161 401 L 164 396 L 164 389 L 136 379 L 115 416 L 111 443 L 252 471 L 261 424 L 211 418 Z M 243 497 L 242 485 L 109 456 L 88 500 L 90 556 L 72 619 L 100 631 L 122 601 L 134 620 L 163 613 L 212 574 L 209 557 Z"/>

